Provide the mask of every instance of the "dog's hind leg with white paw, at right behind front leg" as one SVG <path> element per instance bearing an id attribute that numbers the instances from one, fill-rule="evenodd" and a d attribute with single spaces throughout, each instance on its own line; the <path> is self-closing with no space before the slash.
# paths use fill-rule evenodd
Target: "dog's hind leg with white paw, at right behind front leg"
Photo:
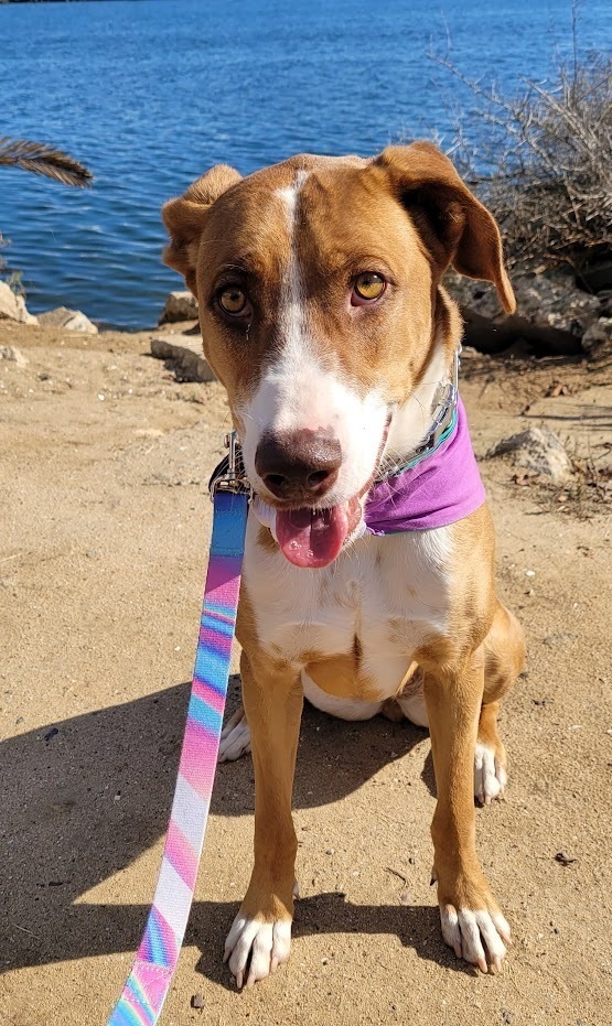
<path id="1" fill-rule="evenodd" d="M 497 603 L 484 639 L 484 695 L 474 757 L 474 793 L 482 804 L 504 793 L 506 752 L 497 730 L 500 702 L 512 688 L 525 662 L 525 639 L 516 617 Z"/>

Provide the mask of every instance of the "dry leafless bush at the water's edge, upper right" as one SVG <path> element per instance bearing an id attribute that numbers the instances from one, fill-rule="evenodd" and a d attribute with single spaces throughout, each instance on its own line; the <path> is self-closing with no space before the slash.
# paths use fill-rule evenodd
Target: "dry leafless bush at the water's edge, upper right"
<path id="1" fill-rule="evenodd" d="M 519 79 L 513 96 L 430 54 L 474 98 L 469 116 L 450 109 L 449 155 L 495 214 L 511 262 L 534 269 L 580 270 L 612 255 L 612 58 L 580 63 L 572 12 L 573 58 L 554 80 Z"/>

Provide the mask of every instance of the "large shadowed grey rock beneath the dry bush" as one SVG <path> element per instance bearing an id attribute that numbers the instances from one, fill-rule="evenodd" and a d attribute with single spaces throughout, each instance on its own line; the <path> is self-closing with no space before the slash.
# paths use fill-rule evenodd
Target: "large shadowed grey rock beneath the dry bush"
<path id="1" fill-rule="evenodd" d="M 516 313 L 505 314 L 495 289 L 469 278 L 449 276 L 449 292 L 465 321 L 465 341 L 483 353 L 501 353 L 517 337 L 536 355 L 573 355 L 593 321 L 603 313 L 600 298 L 582 291 L 573 274 L 550 270 L 512 276 Z"/>

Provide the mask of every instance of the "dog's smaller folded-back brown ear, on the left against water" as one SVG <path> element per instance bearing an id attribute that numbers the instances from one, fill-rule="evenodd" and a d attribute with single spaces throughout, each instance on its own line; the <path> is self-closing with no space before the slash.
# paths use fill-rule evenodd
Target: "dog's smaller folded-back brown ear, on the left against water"
<path id="1" fill-rule="evenodd" d="M 234 168 L 216 164 L 190 185 L 184 196 L 170 199 L 162 208 L 161 216 L 170 236 L 163 261 L 183 276 L 196 299 L 195 269 L 204 219 L 213 203 L 240 180 L 241 174 Z"/>

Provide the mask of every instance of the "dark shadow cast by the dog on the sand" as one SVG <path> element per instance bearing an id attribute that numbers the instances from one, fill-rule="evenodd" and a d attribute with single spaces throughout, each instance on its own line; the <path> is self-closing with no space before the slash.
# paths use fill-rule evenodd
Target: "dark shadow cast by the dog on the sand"
<path id="1" fill-rule="evenodd" d="M 238 695 L 234 679 L 229 709 Z M 78 899 L 130 865 L 165 830 L 187 700 L 189 684 L 181 684 L 0 744 L 4 969 L 135 950 L 144 906 Z M 294 808 L 340 800 L 376 774 L 391 752 L 405 754 L 426 737 L 406 722 L 345 723 L 307 706 Z M 333 771 L 321 773 L 322 766 Z M 430 760 L 423 777 L 431 787 Z M 244 816 L 253 809 L 250 757 L 222 766 L 213 813 Z M 434 907 L 356 906 L 343 895 L 322 894 L 298 908 L 298 936 L 395 933 L 423 958 L 447 959 Z M 222 984 L 228 974 L 218 954 L 235 912 L 230 903 L 196 903 L 187 930 L 187 940 L 205 938 L 201 970 Z"/>

